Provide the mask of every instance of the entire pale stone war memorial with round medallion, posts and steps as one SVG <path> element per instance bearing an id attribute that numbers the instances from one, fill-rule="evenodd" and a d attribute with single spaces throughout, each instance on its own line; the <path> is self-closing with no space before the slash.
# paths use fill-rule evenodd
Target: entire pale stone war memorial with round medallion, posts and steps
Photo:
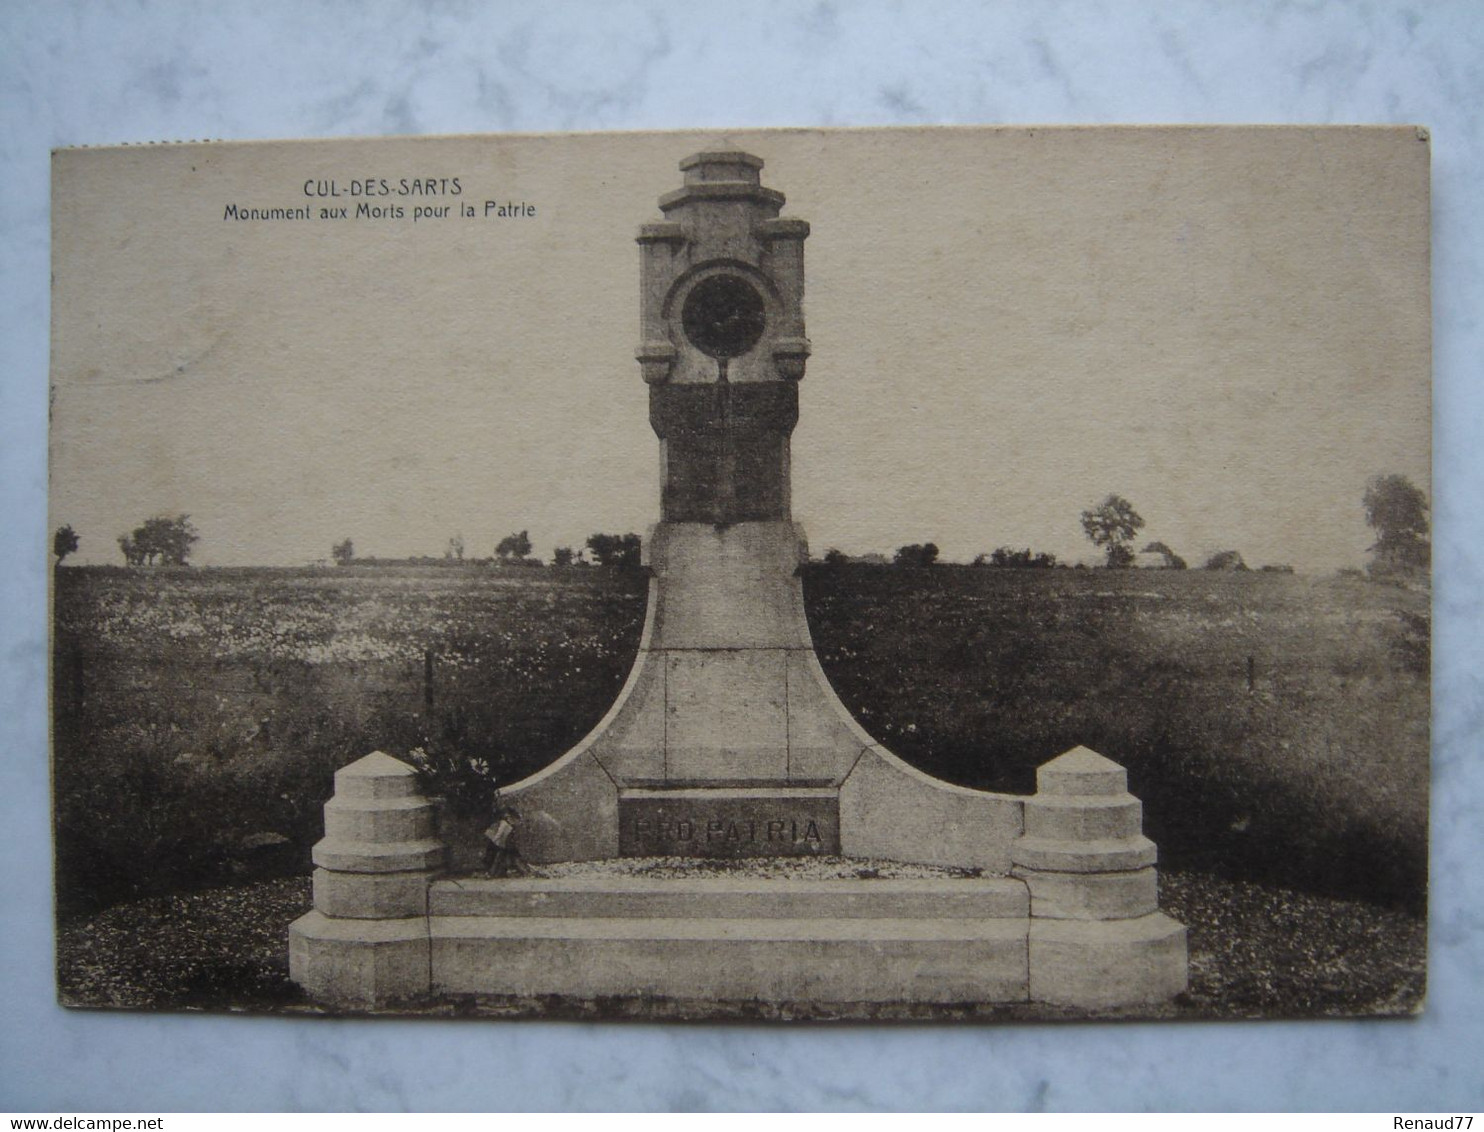
<path id="1" fill-rule="evenodd" d="M 640 228 L 637 356 L 660 521 L 634 669 L 576 748 L 502 797 L 537 875 L 451 878 L 433 806 L 372 754 L 335 776 L 291 973 L 341 1009 L 438 994 L 824 1007 L 1128 1007 L 1186 987 L 1123 769 L 1077 748 L 1030 797 L 936 780 L 835 697 L 789 512 L 809 226 L 763 162 L 697 153 Z M 623 858 L 861 858 L 828 878 L 559 869 Z M 947 866 L 942 875 L 922 866 Z M 954 869 L 953 874 L 947 869 Z M 788 869 L 784 869 L 787 874 Z"/>

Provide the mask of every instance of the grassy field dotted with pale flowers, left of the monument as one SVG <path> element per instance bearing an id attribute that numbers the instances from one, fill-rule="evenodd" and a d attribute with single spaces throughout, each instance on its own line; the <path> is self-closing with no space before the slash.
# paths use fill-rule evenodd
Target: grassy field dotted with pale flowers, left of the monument
<path id="1" fill-rule="evenodd" d="M 643 619 L 598 570 L 58 571 L 59 914 L 307 871 L 372 749 L 456 795 L 530 773 L 607 711 Z"/>

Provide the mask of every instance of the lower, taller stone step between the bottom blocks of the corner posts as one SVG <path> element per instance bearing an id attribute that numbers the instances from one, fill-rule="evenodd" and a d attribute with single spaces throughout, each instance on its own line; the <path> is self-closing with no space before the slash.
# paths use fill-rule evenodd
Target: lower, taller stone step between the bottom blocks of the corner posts
<path id="1" fill-rule="evenodd" d="M 1027 926 L 1009 920 L 438 917 L 445 994 L 706 1001 L 1024 1001 Z"/>

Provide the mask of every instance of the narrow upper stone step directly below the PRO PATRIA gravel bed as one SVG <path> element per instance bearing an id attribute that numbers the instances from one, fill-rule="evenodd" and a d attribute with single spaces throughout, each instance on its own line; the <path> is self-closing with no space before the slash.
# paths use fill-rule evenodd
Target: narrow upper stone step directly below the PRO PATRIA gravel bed
<path id="1" fill-rule="evenodd" d="M 1028 915 L 1006 877 L 907 880 L 509 877 L 441 880 L 429 909 L 445 917 L 672 918 L 690 921 L 978 921 Z M 821 929 L 824 930 L 824 929 Z"/>

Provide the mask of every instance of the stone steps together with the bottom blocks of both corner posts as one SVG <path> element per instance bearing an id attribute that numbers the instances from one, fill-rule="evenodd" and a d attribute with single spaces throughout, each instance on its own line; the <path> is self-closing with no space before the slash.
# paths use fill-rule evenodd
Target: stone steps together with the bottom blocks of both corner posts
<path id="1" fill-rule="evenodd" d="M 1112 1007 L 1184 987 L 1184 929 L 1158 912 L 1030 912 L 1014 877 L 469 877 L 432 883 L 427 915 L 310 912 L 291 958 L 297 982 L 355 1009 L 427 994 Z"/>

